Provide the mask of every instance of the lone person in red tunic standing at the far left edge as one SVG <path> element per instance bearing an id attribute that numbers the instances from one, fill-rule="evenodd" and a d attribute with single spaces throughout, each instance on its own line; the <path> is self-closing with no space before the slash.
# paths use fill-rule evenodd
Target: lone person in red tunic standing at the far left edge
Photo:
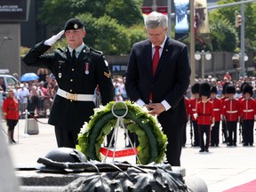
<path id="1" fill-rule="evenodd" d="M 3 102 L 4 119 L 8 126 L 8 138 L 10 144 L 15 144 L 16 141 L 13 139 L 14 127 L 19 121 L 19 102 L 14 97 L 12 89 L 8 90 L 8 96 Z"/>

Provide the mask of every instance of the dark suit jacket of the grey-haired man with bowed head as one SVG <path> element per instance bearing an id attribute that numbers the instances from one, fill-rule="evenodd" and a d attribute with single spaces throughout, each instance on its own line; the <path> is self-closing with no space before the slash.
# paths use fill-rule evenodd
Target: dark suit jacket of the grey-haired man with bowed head
<path id="1" fill-rule="evenodd" d="M 183 96 L 188 89 L 190 73 L 187 46 L 167 37 L 153 77 L 152 44 L 149 40 L 144 40 L 132 46 L 125 89 L 133 101 L 141 99 L 148 103 L 150 92 L 153 102 L 166 100 L 172 108 L 158 118 L 166 116 L 169 124 L 173 125 L 186 124 Z"/>

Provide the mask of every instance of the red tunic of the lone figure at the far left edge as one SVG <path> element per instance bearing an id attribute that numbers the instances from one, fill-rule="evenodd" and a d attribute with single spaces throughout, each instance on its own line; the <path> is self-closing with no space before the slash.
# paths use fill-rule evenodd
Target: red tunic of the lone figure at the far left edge
<path id="1" fill-rule="evenodd" d="M 5 119 L 19 119 L 19 103 L 15 98 L 6 98 L 3 102 L 3 112 Z"/>

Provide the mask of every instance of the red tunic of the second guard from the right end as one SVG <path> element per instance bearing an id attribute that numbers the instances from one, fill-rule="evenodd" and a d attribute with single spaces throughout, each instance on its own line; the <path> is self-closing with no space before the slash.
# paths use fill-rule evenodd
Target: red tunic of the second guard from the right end
<path id="1" fill-rule="evenodd" d="M 226 116 L 227 121 L 238 121 L 240 112 L 239 101 L 236 99 L 225 100 L 223 103 L 223 114 Z"/>

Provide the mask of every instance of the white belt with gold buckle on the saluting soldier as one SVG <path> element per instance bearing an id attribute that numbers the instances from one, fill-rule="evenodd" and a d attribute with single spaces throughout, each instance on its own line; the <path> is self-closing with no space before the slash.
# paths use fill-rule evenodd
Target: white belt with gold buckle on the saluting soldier
<path id="1" fill-rule="evenodd" d="M 94 100 L 93 94 L 70 93 L 70 92 L 61 90 L 60 88 L 58 89 L 56 94 L 60 95 L 60 97 L 63 97 L 67 100 L 78 100 L 78 101 L 93 101 Z"/>

